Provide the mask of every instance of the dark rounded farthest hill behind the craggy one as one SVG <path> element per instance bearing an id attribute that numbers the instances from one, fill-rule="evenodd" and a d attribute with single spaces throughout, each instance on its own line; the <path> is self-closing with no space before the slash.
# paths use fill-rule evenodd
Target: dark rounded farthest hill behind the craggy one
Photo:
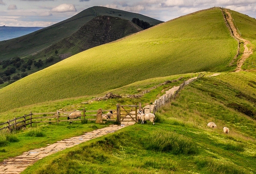
<path id="1" fill-rule="evenodd" d="M 26 36 L 0 42 L 0 61 L 11 59 L 15 56 L 23 58 L 28 55 L 33 55 L 34 53 L 61 41 L 63 38 L 71 36 L 88 21 L 96 16 L 102 15 L 119 17 L 130 21 L 132 21 L 133 18 L 139 18 L 152 25 L 162 23 L 160 20 L 137 13 L 106 7 L 91 7 L 50 27 L 46 27 Z"/>

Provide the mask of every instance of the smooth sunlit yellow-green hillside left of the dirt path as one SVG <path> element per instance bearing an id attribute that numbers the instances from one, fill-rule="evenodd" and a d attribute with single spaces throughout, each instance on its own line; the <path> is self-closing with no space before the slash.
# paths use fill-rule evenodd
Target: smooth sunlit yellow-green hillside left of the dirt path
<path id="1" fill-rule="evenodd" d="M 198 71 L 227 71 L 237 41 L 222 11 L 209 9 L 165 22 L 74 55 L 0 90 L 0 111 L 98 94 L 139 80 Z"/>

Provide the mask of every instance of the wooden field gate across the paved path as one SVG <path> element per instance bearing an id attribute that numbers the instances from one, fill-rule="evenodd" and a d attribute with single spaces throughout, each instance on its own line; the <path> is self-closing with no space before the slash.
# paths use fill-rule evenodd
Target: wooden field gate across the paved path
<path id="1" fill-rule="evenodd" d="M 117 104 L 116 121 L 137 121 L 138 106 L 137 105 L 120 105 Z"/>

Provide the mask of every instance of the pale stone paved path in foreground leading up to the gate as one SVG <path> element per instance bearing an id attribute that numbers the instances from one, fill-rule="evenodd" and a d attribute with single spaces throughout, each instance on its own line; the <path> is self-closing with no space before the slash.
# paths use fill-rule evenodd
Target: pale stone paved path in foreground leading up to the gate
<path id="1" fill-rule="evenodd" d="M 36 148 L 23 153 L 20 156 L 9 158 L 0 163 L 0 174 L 16 174 L 24 171 L 28 166 L 33 165 L 39 159 L 52 155 L 56 152 L 73 147 L 93 138 L 97 138 L 109 133 L 113 133 L 124 127 L 134 125 L 134 121 L 122 122 L 121 126 L 111 125 L 110 127 L 87 132 L 84 135 L 57 141 L 47 147 Z"/>

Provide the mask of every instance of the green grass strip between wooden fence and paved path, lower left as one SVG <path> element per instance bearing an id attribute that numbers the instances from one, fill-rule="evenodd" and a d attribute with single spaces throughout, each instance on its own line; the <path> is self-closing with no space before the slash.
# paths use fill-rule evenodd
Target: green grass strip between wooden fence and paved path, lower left
<path id="1" fill-rule="evenodd" d="M 88 121 L 82 123 L 81 121 L 60 122 L 55 123 L 41 123 L 33 125 L 32 128 L 26 130 L 16 131 L 15 134 L 9 132 L 0 132 L 0 161 L 23 154 L 34 148 L 47 146 L 56 141 L 70 138 L 73 136 L 82 135 L 85 132 L 90 132 L 95 129 L 104 128 L 109 123 L 95 125 L 95 122 Z"/>

